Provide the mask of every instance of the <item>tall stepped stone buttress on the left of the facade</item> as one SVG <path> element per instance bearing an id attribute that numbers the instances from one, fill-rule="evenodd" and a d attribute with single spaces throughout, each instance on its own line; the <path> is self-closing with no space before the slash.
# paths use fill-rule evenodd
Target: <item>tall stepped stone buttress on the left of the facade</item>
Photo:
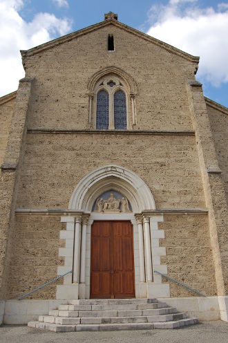
<path id="1" fill-rule="evenodd" d="M 10 124 L 6 154 L 0 174 L 0 299 L 6 298 L 7 266 L 10 260 L 10 228 L 13 227 L 17 187 L 23 160 L 32 91 L 31 78 L 19 82 L 15 110 Z"/>

